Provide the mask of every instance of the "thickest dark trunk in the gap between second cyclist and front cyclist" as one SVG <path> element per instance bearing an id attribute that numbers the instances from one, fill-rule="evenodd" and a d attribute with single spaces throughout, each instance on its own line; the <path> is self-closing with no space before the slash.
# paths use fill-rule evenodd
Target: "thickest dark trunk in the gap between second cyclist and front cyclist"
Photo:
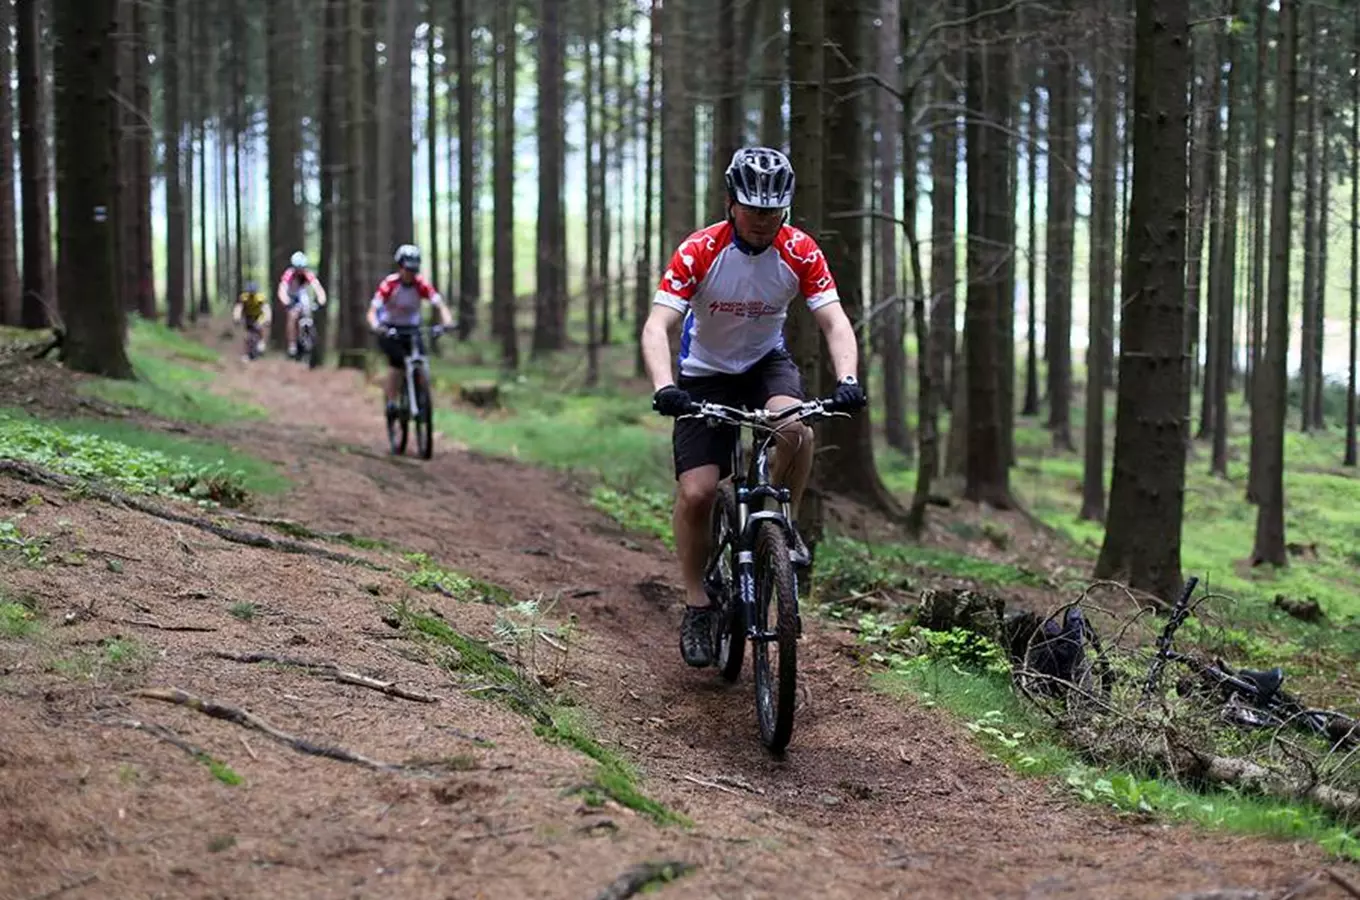
<path id="1" fill-rule="evenodd" d="M 539 264 L 533 310 L 533 356 L 558 349 L 558 306 L 566 288 L 566 247 L 558 232 L 566 143 L 563 136 L 562 0 L 539 0 Z"/>

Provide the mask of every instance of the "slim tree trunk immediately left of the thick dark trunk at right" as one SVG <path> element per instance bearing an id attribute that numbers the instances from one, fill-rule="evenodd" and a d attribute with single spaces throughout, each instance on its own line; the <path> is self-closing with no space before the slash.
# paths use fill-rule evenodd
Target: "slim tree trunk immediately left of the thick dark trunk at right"
<path id="1" fill-rule="evenodd" d="M 1103 7 L 1103 8 L 1102 8 Z M 1110 19 L 1118 16 L 1111 0 L 1098 7 Z M 1114 41 L 1096 38 L 1092 72 L 1091 136 L 1091 298 L 1087 325 L 1085 460 L 1081 473 L 1081 518 L 1104 521 L 1104 382 L 1111 360 L 1104 356 L 1106 306 L 1114 303 L 1115 155 L 1119 97 L 1111 67 Z"/>

